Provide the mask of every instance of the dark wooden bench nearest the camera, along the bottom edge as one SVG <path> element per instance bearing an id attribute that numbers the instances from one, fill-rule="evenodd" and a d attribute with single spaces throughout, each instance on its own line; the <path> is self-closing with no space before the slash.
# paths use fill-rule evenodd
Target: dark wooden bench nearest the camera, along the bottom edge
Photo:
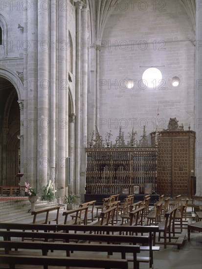
<path id="1" fill-rule="evenodd" d="M 27 256 L 24 255 L 6 255 L 0 254 L 1 263 L 9 265 L 10 269 L 15 269 L 15 265 L 43 265 L 44 269 L 47 266 L 68 266 L 69 267 L 82 267 L 82 268 L 116 268 L 116 269 L 128 269 L 128 261 L 120 259 L 96 259 L 96 258 L 71 258 L 71 257 L 49 257 L 49 256 Z"/>

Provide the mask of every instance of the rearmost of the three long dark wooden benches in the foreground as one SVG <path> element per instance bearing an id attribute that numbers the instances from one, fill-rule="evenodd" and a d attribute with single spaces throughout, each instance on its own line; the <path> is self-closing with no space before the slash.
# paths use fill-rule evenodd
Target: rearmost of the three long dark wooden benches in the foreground
<path id="1" fill-rule="evenodd" d="M 48 228 L 47 228 L 48 226 Z M 55 239 L 65 239 L 67 240 L 90 240 L 93 241 L 94 239 L 97 239 L 98 242 L 106 242 L 106 240 L 109 240 L 110 242 L 118 242 L 119 240 L 122 240 L 122 242 L 124 240 L 126 240 L 126 243 L 129 244 L 130 242 L 132 244 L 136 244 L 136 243 L 140 243 L 138 242 L 138 240 L 142 240 L 141 237 L 137 237 L 137 236 L 129 236 L 129 237 L 123 237 L 123 235 L 118 235 L 118 238 L 114 238 L 113 241 L 112 237 L 110 238 L 92 238 L 92 237 L 87 237 L 89 236 L 89 234 L 87 234 L 87 232 L 102 232 L 102 233 L 107 233 L 108 235 L 110 233 L 114 234 L 114 233 L 123 233 L 123 232 L 128 232 L 131 234 L 134 233 L 147 233 L 149 234 L 149 243 L 148 246 L 140 246 L 140 250 L 149 250 L 149 258 L 146 257 L 145 259 L 141 259 L 141 257 L 137 257 L 137 261 L 138 262 L 142 262 L 143 260 L 145 261 L 147 259 L 147 261 L 150 262 L 150 268 L 153 266 L 153 251 L 154 250 L 159 250 L 159 247 L 155 247 L 155 236 L 156 236 L 156 232 L 158 231 L 158 227 L 157 226 L 111 226 L 111 225 L 102 225 L 102 226 L 94 226 L 94 225 L 64 225 L 64 224 L 58 224 L 58 225 L 53 225 L 53 224 L 49 224 L 49 225 L 45 225 L 45 224 L 10 224 L 10 223 L 0 223 L 0 229 L 14 229 L 14 230 L 32 230 L 32 229 L 37 229 L 37 230 L 49 230 L 49 231 L 53 231 L 54 233 L 51 233 L 51 237 L 55 236 Z M 67 233 L 57 233 L 57 231 L 61 231 L 64 230 Z M 70 234 L 70 232 L 84 232 L 85 234 Z M 2 231 L 5 232 L 5 231 Z M 43 234 L 43 235 L 41 235 Z M 48 236 L 48 234 L 50 233 L 32 233 L 32 236 L 37 237 L 39 239 L 43 238 L 44 234 L 46 234 L 46 236 Z M 154 236 L 153 236 L 154 234 Z M 2 235 L 2 233 L 1 233 Z M 19 232 L 19 234 L 15 234 L 15 236 L 25 236 L 24 234 L 22 235 L 22 232 Z M 30 235 L 30 233 L 28 234 Z M 28 236 L 26 235 L 26 236 Z M 75 235 L 75 236 L 74 236 Z M 93 234 L 90 234 L 90 236 Z M 8 236 L 8 235 L 7 235 Z M 76 238 L 77 236 L 77 238 Z M 86 236 L 86 237 L 83 237 Z M 154 241 L 153 241 L 154 238 Z M 5 238 L 6 240 L 6 238 Z M 105 241 L 104 241 L 105 240 Z M 132 240 L 132 241 L 131 241 Z M 144 239 L 145 240 L 145 239 Z M 146 241 L 148 241 L 148 239 L 146 239 Z M 108 242 L 108 241 L 107 241 Z M 136 242 L 136 243 L 135 243 Z"/>

